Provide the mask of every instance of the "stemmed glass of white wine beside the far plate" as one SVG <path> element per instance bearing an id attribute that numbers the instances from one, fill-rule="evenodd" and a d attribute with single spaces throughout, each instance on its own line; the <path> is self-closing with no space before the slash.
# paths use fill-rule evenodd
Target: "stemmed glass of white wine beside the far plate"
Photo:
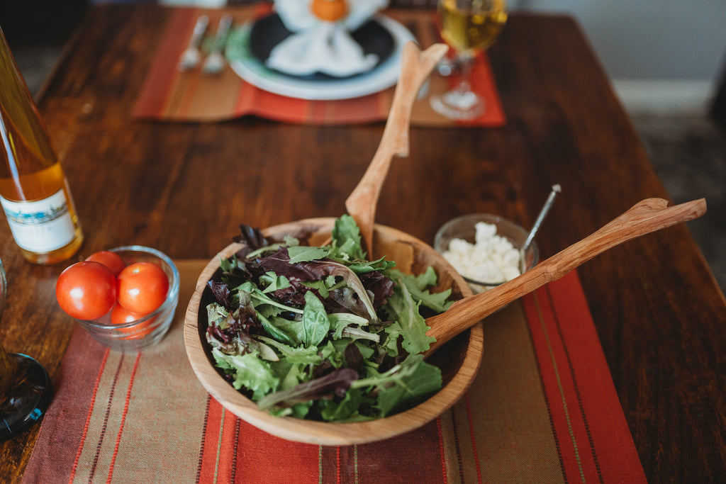
<path id="1" fill-rule="evenodd" d="M 484 112 L 484 99 L 471 89 L 471 67 L 479 52 L 488 49 L 507 22 L 505 0 L 439 0 L 441 36 L 461 62 L 459 84 L 429 99 L 447 118 L 467 120 Z"/>

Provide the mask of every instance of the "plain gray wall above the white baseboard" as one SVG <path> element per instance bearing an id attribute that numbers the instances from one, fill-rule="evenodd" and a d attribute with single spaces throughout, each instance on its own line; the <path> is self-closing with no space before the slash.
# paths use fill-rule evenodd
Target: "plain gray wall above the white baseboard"
<path id="1" fill-rule="evenodd" d="M 716 82 L 726 62 L 726 0 L 510 0 L 574 15 L 612 79 Z"/>

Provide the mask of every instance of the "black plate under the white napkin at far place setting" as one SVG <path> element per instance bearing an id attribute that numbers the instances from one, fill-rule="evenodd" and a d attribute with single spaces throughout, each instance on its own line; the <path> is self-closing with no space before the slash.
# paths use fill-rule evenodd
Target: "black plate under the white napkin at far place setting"
<path id="1" fill-rule="evenodd" d="M 290 30 L 287 30 L 285 24 L 282 23 L 280 15 L 271 14 L 266 17 L 262 17 L 260 20 L 257 20 L 250 29 L 250 52 L 264 65 L 267 58 L 270 56 L 272 49 L 292 34 L 293 33 L 290 32 Z M 351 36 L 356 42 L 358 42 L 358 44 L 360 44 L 360 46 L 362 46 L 365 54 L 378 55 L 378 63 L 375 67 L 378 67 L 381 62 L 388 59 L 393 52 L 393 36 L 390 32 L 388 32 L 388 29 L 378 22 L 378 20 L 368 20 L 357 30 L 352 32 Z M 305 79 L 308 81 L 330 81 L 334 79 L 354 77 L 354 75 L 336 77 L 324 73 L 293 75 L 281 70 L 275 70 L 275 72 L 287 75 L 291 78 Z"/>

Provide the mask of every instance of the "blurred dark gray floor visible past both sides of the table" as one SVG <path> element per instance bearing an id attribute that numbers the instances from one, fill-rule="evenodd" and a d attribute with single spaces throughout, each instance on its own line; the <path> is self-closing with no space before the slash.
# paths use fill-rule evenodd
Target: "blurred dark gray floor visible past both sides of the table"
<path id="1" fill-rule="evenodd" d="M 14 54 L 28 89 L 36 93 L 60 48 L 28 46 Z M 688 226 L 726 292 L 726 126 L 680 112 L 631 111 L 630 116 L 673 202 L 706 198 L 708 212 Z"/>

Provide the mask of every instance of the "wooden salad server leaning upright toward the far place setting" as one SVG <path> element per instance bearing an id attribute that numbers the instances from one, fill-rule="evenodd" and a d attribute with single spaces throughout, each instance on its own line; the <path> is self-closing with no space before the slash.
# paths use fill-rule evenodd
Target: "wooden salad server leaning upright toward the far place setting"
<path id="1" fill-rule="evenodd" d="M 449 49 L 446 44 L 433 44 L 421 52 L 412 41 L 404 45 L 401 75 L 393 92 L 391 110 L 378 149 L 363 178 L 346 200 L 346 210 L 358 224 L 364 248 L 370 254 L 373 247 L 373 223 L 381 186 L 386 179 L 393 156 L 409 154 L 409 124 L 411 110 L 424 81 L 436 62 Z"/>

